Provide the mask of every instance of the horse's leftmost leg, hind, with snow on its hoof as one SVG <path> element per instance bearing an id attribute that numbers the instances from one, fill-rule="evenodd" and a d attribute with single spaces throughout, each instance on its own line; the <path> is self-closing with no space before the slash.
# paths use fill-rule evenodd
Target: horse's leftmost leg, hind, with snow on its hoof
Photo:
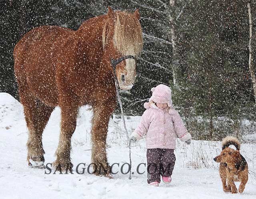
<path id="1" fill-rule="evenodd" d="M 31 94 L 20 93 L 20 100 L 24 106 L 24 114 L 28 127 L 28 165 L 32 167 L 44 167 L 42 132 L 54 107 L 43 104 Z"/>

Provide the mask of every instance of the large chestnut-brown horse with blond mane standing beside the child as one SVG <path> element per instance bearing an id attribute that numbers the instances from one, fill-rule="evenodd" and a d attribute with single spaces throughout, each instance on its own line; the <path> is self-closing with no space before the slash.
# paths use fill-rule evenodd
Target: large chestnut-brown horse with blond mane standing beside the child
<path id="1" fill-rule="evenodd" d="M 138 56 L 143 47 L 138 10 L 134 13 L 108 7 L 108 14 L 91 18 L 77 31 L 41 26 L 26 33 L 14 48 L 14 69 L 28 127 L 28 164 L 44 167 L 42 132 L 56 106 L 61 108 L 61 130 L 56 160 L 58 169 L 71 169 L 71 137 L 78 108 L 89 104 L 92 118 L 92 163 L 108 167 L 106 136 L 116 106 L 111 59 Z M 121 89 L 131 89 L 136 62 L 126 59 L 116 67 Z M 100 174 L 100 169 L 96 169 Z M 110 169 L 104 175 L 110 176 Z"/>

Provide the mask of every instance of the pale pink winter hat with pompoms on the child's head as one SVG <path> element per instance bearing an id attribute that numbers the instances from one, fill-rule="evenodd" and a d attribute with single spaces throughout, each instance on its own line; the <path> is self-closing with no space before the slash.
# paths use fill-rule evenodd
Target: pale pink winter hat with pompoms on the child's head
<path id="1" fill-rule="evenodd" d="M 152 96 L 148 102 L 144 103 L 145 108 L 149 106 L 150 101 L 154 101 L 156 103 L 167 103 L 169 107 L 172 106 L 172 91 L 168 86 L 160 84 L 157 87 L 153 87 L 151 91 L 153 92 Z"/>

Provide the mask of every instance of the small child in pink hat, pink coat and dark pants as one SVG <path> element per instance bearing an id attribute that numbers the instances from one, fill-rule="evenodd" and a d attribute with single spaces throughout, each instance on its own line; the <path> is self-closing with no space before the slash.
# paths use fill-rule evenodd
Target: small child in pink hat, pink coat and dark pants
<path id="1" fill-rule="evenodd" d="M 130 139 L 140 140 L 146 134 L 148 183 L 158 186 L 160 175 L 164 183 L 172 181 L 171 175 L 176 160 L 176 135 L 187 144 L 191 142 L 191 135 L 178 112 L 172 107 L 171 89 L 160 84 L 151 91 L 152 97 L 149 102 L 144 103 L 146 110 Z"/>

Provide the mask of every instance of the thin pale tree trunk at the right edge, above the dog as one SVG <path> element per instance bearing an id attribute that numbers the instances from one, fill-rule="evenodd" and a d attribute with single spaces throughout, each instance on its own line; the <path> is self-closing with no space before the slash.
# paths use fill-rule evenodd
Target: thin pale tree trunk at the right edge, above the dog
<path id="1" fill-rule="evenodd" d="M 249 71 L 251 74 L 251 78 L 252 78 L 252 88 L 254 91 L 254 100 L 256 102 L 256 77 L 255 77 L 255 72 L 254 72 L 254 67 L 252 65 L 252 13 L 251 13 L 251 4 L 250 1 L 247 4 L 248 7 L 248 15 L 249 15 L 249 25 L 250 25 L 250 39 L 249 39 Z"/>

